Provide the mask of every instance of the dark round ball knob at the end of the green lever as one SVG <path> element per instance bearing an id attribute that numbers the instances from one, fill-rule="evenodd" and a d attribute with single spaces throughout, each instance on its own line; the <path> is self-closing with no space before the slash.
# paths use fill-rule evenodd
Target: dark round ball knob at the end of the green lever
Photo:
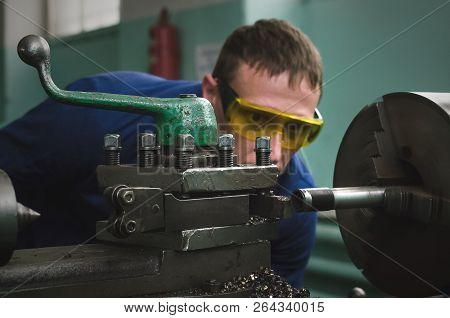
<path id="1" fill-rule="evenodd" d="M 22 61 L 33 67 L 50 60 L 50 46 L 38 35 L 27 35 L 17 45 L 17 53 Z"/>

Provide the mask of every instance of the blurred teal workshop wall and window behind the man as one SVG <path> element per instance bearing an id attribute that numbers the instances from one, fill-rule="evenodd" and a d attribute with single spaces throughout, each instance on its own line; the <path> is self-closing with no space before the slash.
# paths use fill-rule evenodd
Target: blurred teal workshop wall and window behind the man
<path id="1" fill-rule="evenodd" d="M 210 67 L 211 63 L 203 63 L 204 59 L 214 58 L 236 27 L 260 18 L 280 18 L 301 28 L 322 54 L 325 86 L 319 109 L 325 127 L 303 155 L 317 185 L 331 186 L 340 141 L 365 104 L 388 92 L 450 90 L 450 5 L 446 3 L 0 1 L 0 125 L 20 117 L 46 98 L 37 73 L 31 72 L 16 53 L 18 41 L 27 34 L 39 34 L 50 41 L 53 77 L 59 86 L 105 71 L 147 72 L 149 28 L 157 22 L 164 5 L 178 30 L 180 78 L 195 80 Z M 320 218 L 305 286 L 319 297 L 346 296 L 354 286 L 364 288 L 369 296 L 386 296 L 350 262 L 332 214 Z"/>

